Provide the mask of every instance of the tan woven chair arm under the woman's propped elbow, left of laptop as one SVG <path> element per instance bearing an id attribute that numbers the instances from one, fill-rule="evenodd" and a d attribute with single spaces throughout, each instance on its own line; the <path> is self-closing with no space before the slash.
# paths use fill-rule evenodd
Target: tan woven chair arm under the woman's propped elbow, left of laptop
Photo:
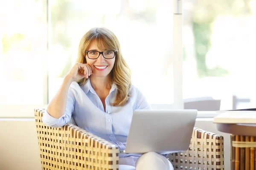
<path id="1" fill-rule="evenodd" d="M 44 125 L 44 109 L 35 109 L 42 169 L 118 170 L 119 149 L 71 123 L 53 128 Z"/>

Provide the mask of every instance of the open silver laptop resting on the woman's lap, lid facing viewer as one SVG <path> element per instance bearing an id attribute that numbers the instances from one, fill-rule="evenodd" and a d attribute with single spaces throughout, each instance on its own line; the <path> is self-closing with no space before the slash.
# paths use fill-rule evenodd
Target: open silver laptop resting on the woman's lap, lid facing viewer
<path id="1" fill-rule="evenodd" d="M 197 110 L 136 110 L 120 156 L 188 150 Z"/>

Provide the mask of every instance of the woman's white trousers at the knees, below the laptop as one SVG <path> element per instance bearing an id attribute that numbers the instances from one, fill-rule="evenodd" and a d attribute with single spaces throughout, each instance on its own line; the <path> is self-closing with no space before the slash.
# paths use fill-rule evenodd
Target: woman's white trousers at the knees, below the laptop
<path id="1" fill-rule="evenodd" d="M 173 166 L 164 156 L 148 152 L 139 158 L 119 158 L 119 170 L 173 170 Z"/>

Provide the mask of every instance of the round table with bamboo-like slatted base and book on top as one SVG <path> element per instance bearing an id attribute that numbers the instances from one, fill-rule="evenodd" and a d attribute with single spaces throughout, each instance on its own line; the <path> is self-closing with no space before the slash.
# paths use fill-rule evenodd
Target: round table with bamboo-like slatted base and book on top
<path id="1" fill-rule="evenodd" d="M 217 129 L 232 134 L 233 170 L 256 170 L 256 111 L 218 111 Z"/>

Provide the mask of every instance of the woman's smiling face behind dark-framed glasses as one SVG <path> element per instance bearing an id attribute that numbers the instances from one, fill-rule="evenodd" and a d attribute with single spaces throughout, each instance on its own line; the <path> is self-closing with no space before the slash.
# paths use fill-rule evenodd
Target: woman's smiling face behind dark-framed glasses
<path id="1" fill-rule="evenodd" d="M 105 49 L 105 51 L 107 51 L 109 49 Z M 98 45 L 96 43 L 96 41 L 93 41 L 88 50 L 87 51 L 99 51 Z M 114 57 L 113 59 L 105 59 L 102 54 L 99 55 L 99 57 L 97 59 L 89 59 L 88 55 L 86 54 L 86 61 L 87 64 L 90 65 L 90 67 L 92 68 L 93 71 L 93 75 L 92 76 L 96 76 L 96 77 L 106 77 L 112 70 L 114 63 L 115 63 L 115 59 L 116 57 Z"/>

